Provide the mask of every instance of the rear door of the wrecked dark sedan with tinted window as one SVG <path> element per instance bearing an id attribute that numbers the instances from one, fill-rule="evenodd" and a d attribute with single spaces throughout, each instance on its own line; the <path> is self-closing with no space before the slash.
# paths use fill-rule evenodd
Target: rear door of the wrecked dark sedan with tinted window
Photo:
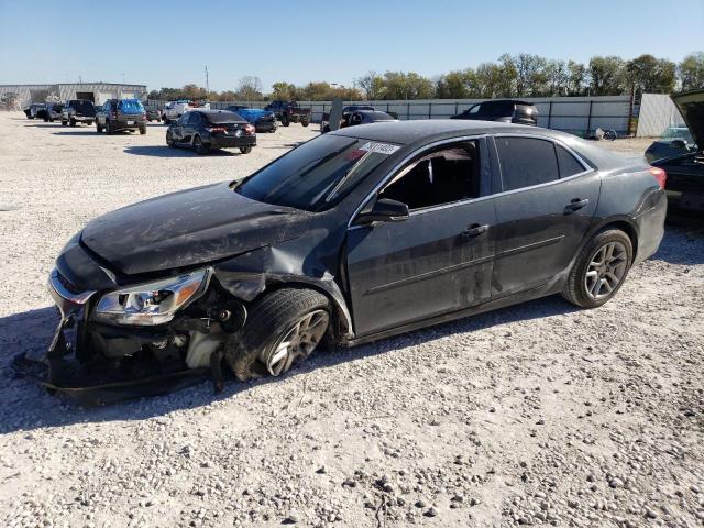
<path id="1" fill-rule="evenodd" d="M 601 178 L 564 145 L 497 135 L 501 191 L 492 298 L 556 282 L 593 221 Z"/>

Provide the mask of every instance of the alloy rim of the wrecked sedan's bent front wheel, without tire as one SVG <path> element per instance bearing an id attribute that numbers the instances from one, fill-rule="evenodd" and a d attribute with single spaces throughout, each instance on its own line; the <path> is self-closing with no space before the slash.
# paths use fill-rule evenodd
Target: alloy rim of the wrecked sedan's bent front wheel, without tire
<path id="1" fill-rule="evenodd" d="M 306 314 L 285 330 L 272 348 L 262 351 L 260 361 L 272 376 L 284 374 L 296 360 L 310 355 L 324 336 L 329 320 L 326 310 Z"/>

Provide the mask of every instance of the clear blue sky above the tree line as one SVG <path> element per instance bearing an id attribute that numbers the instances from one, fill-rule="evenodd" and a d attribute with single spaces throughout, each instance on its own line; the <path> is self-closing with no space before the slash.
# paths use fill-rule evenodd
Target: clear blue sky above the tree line
<path id="1" fill-rule="evenodd" d="M 586 62 L 693 51 L 704 51 L 704 0 L 0 0 L 0 84 L 180 87 L 205 85 L 208 65 L 219 91 L 245 75 L 266 89 L 351 86 L 371 69 L 432 77 L 503 53 Z"/>

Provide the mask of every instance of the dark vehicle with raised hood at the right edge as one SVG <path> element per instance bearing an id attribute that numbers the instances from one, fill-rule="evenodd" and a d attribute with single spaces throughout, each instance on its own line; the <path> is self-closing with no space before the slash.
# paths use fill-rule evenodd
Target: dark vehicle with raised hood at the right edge
<path id="1" fill-rule="evenodd" d="M 671 96 L 694 144 L 685 145 L 684 152 L 652 162 L 668 173 L 668 197 L 670 202 L 684 210 L 704 211 L 704 89 Z M 675 140 L 676 141 L 676 140 Z"/>

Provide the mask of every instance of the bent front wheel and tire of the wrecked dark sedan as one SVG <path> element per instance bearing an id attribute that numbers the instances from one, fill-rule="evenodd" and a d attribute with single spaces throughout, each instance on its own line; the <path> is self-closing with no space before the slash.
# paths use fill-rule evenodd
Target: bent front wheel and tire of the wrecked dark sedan
<path id="1" fill-rule="evenodd" d="M 228 338 L 226 358 L 234 375 L 246 381 L 279 376 L 310 356 L 330 324 L 330 302 L 319 292 L 282 288 L 252 306 L 244 328 Z"/>

